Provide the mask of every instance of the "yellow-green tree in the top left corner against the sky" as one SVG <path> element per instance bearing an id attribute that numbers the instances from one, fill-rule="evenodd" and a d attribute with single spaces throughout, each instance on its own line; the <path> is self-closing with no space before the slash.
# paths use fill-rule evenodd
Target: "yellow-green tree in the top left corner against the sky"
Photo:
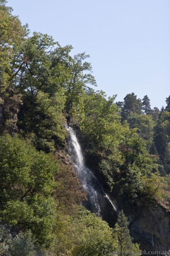
<path id="1" fill-rule="evenodd" d="M 13 78 L 19 66 L 15 66 L 14 55 L 22 44 L 26 31 L 17 16 L 11 14 L 12 9 L 0 3 L 0 93 L 10 91 Z"/>

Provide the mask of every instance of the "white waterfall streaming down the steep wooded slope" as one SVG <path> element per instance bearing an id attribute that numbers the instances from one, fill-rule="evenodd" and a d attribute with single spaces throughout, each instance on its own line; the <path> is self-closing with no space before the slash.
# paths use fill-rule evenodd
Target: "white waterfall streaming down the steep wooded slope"
<path id="1" fill-rule="evenodd" d="M 107 200 L 112 206 L 114 212 L 116 208 L 114 203 L 103 190 L 102 185 L 92 173 L 92 171 L 85 165 L 81 146 L 78 142 L 77 136 L 72 127 L 66 125 L 66 129 L 70 135 L 68 140 L 68 151 L 71 156 L 71 161 L 74 165 L 75 172 L 82 181 L 83 188 L 87 191 L 88 208 L 98 216 L 102 216 L 102 204 Z"/>

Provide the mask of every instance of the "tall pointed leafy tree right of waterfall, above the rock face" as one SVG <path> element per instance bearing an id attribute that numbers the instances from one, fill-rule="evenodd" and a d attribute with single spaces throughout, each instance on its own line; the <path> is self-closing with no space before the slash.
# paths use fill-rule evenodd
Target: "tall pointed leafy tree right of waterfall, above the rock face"
<path id="1" fill-rule="evenodd" d="M 150 175 L 153 170 L 158 170 L 157 156 L 150 155 L 146 148 L 145 140 L 137 132 L 137 128 L 130 129 L 127 122 L 123 124 L 123 136 L 119 144 L 121 165 L 119 172 L 114 177 L 114 191 L 125 202 L 133 200 L 143 193 L 141 177 Z"/>

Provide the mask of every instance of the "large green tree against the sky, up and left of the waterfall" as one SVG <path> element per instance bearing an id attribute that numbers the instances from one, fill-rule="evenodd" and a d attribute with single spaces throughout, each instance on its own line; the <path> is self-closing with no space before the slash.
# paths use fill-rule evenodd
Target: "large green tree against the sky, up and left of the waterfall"
<path id="1" fill-rule="evenodd" d="M 16 89 L 27 96 L 34 96 L 37 91 L 53 96 L 67 81 L 71 48 L 62 48 L 47 34 L 34 32 L 22 44 L 19 56 L 15 56 L 17 65 L 22 65 Z"/>

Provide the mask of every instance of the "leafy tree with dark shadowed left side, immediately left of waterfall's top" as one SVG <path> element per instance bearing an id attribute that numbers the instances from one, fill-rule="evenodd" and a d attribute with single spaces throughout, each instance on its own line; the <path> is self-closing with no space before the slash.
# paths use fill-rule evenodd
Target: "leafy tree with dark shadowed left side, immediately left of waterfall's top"
<path id="1" fill-rule="evenodd" d="M 34 145 L 39 150 L 53 152 L 54 145 L 65 141 L 62 110 L 65 96 L 63 89 L 49 97 L 48 93 L 38 92 L 31 102 L 24 102 L 19 113 L 18 127 L 24 134 L 34 133 Z"/>

